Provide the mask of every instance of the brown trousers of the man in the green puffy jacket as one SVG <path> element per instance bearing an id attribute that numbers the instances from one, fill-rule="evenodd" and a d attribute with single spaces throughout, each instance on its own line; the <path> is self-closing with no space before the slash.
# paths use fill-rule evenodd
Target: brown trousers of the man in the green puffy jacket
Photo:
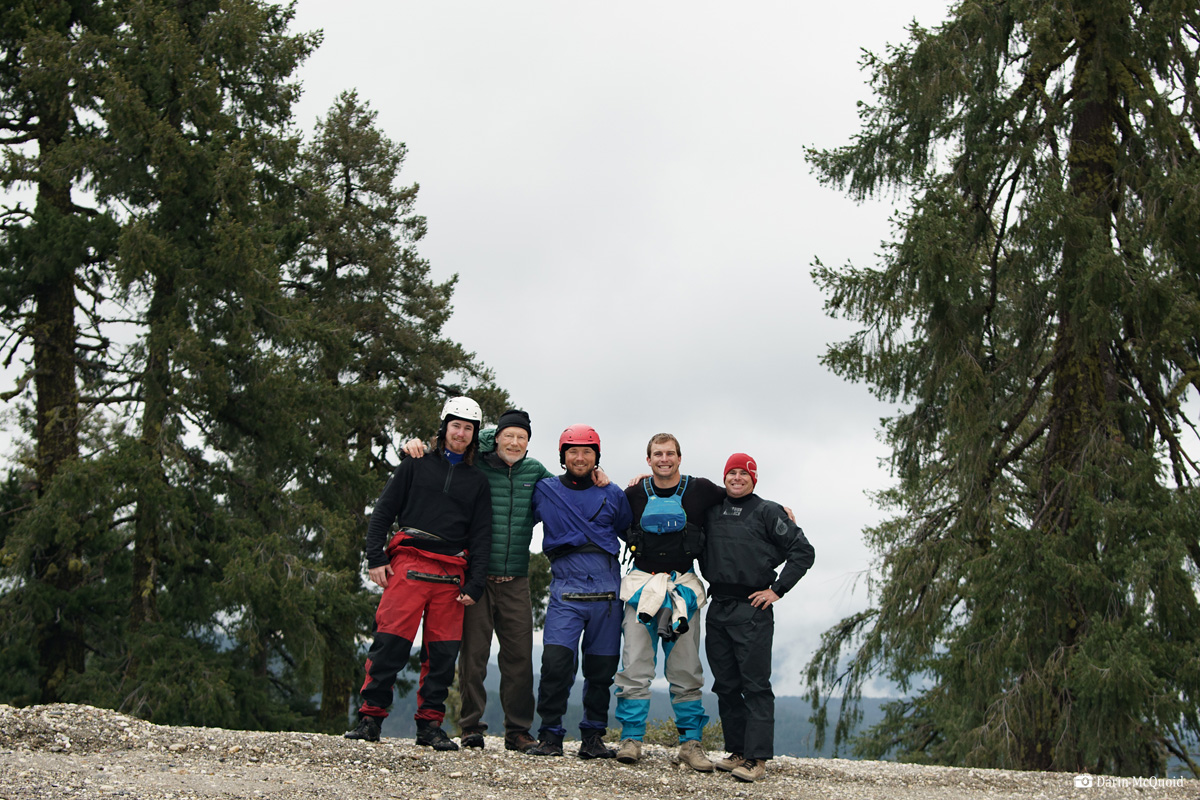
<path id="1" fill-rule="evenodd" d="M 504 583 L 487 582 L 487 589 L 474 606 L 468 606 L 462 620 L 462 648 L 458 651 L 458 691 L 462 710 L 458 727 L 463 732 L 484 732 L 487 706 L 487 657 L 492 650 L 492 632 L 500 642 L 497 658 L 500 668 L 500 706 L 504 709 L 504 733 L 511 736 L 529 733 L 533 727 L 533 604 L 529 578 Z"/>

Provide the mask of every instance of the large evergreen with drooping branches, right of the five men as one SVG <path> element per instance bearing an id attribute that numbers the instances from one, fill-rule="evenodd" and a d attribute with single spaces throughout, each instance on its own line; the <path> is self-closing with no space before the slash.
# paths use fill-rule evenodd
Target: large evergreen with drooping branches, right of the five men
<path id="1" fill-rule="evenodd" d="M 912 693 L 864 754 L 1196 771 L 1198 56 L 1190 2 L 962 2 L 810 154 L 912 198 L 880 266 L 814 272 L 864 325 L 824 363 L 905 403 L 872 607 L 808 669 L 822 726 L 874 675 Z"/>

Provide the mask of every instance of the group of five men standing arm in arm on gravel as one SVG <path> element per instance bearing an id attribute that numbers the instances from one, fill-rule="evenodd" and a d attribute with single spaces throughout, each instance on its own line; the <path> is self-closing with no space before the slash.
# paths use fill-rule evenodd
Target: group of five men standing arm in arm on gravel
<path id="1" fill-rule="evenodd" d="M 623 492 L 600 469 L 600 437 L 589 426 L 574 425 L 559 437 L 564 471 L 556 476 L 527 455 L 528 414 L 508 410 L 494 431 L 481 433 L 481 423 L 474 401 L 448 401 L 432 452 L 408 443 L 410 457 L 376 503 L 367 566 L 383 596 L 359 721 L 347 738 L 378 740 L 396 673 L 424 621 L 418 745 L 458 750 L 442 729 L 457 658 L 461 744 L 484 747 L 484 676 L 494 632 L 508 750 L 563 754 L 563 717 L 582 664 L 578 756 L 636 763 L 661 646 L 680 763 L 762 778 L 774 754 L 770 606 L 811 567 L 814 549 L 786 509 L 754 493 L 755 461 L 731 456 L 722 488 L 683 475 L 678 440 L 660 433 L 647 445 L 650 473 Z M 534 739 L 529 545 L 536 523 L 552 579 Z M 632 559 L 624 577 L 623 542 Z M 700 660 L 706 603 L 706 654 L 730 752 L 715 763 L 701 745 L 708 722 Z M 616 750 L 604 742 L 614 681 L 622 727 Z"/>

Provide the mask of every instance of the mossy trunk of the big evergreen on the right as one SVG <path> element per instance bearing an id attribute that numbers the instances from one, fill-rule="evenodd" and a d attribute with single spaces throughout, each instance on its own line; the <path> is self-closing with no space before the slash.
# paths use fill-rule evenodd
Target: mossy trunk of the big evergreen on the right
<path id="1" fill-rule="evenodd" d="M 1088 469 L 1110 458 L 1110 440 L 1120 437 L 1112 417 L 1110 387 L 1114 385 L 1109 343 L 1090 330 L 1078 309 L 1091 296 L 1088 271 L 1098 241 L 1112 231 L 1115 114 L 1112 88 L 1100 61 L 1106 58 L 1098 42 L 1096 23 L 1082 12 L 1080 52 L 1074 74 L 1074 120 L 1070 132 L 1068 188 L 1078 200 L 1078 218 L 1064 219 L 1062 269 L 1057 296 L 1058 330 L 1055 339 L 1055 374 L 1050 396 L 1050 425 L 1042 464 L 1040 497 L 1034 528 L 1046 536 L 1046 547 L 1068 563 L 1082 563 L 1094 552 L 1094 534 L 1078 524 L 1076 500 L 1094 497 L 1098 487 Z M 1084 769 L 1078 753 L 1063 748 L 1062 726 L 1070 717 L 1073 698 L 1062 686 L 1073 648 L 1084 633 L 1090 608 L 1082 589 L 1068 585 L 1040 596 L 1036 609 L 1045 633 L 1042 650 L 1031 654 L 1034 675 L 1025 690 L 1033 698 L 1032 729 L 1027 732 L 1022 766 L 1027 769 Z M 1066 654 L 1066 655 L 1062 655 Z M 1060 661 L 1061 658 L 1061 661 Z M 1049 666 L 1055 664 L 1055 666 Z M 1067 744 L 1066 750 L 1070 750 Z"/>

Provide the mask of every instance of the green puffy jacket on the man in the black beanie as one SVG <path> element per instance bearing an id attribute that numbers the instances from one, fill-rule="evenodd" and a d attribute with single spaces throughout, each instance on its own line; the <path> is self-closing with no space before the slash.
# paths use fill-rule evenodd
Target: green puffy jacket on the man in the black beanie
<path id="1" fill-rule="evenodd" d="M 526 456 L 512 467 L 496 455 L 496 428 L 479 434 L 481 458 L 476 465 L 492 487 L 492 557 L 487 575 L 523 578 L 529 575 L 533 540 L 533 487 L 553 477 L 540 461 Z"/>

